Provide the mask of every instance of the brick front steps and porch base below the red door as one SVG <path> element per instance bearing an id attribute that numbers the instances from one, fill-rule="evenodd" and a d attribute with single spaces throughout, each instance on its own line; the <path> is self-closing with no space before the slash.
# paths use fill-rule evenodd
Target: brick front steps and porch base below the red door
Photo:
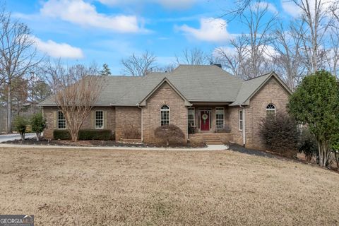
<path id="1" fill-rule="evenodd" d="M 232 133 L 194 133 L 189 134 L 190 142 L 203 142 L 207 145 L 218 145 L 233 141 Z"/>

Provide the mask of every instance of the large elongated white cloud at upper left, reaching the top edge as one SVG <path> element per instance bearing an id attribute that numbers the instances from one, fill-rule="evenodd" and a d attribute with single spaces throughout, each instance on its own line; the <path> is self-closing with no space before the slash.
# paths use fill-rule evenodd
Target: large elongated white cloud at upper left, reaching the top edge
<path id="1" fill-rule="evenodd" d="M 141 32 L 136 16 L 107 16 L 97 13 L 95 6 L 83 0 L 49 0 L 40 9 L 44 16 L 61 18 L 83 26 L 114 30 L 115 32 Z"/>

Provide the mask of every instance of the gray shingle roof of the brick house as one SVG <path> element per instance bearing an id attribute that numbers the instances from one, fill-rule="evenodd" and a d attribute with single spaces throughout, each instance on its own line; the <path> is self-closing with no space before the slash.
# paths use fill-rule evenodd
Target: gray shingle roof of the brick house
<path id="1" fill-rule="evenodd" d="M 171 73 L 150 73 L 144 77 L 105 76 L 99 106 L 136 106 L 167 78 L 189 102 L 230 102 L 242 105 L 271 73 L 242 81 L 218 66 L 180 65 Z M 52 97 L 40 103 L 54 105 Z"/>

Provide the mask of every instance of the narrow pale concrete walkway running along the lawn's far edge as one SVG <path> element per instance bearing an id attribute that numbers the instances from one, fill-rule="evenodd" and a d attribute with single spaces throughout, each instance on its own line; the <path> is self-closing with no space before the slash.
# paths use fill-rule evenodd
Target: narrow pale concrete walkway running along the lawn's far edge
<path id="1" fill-rule="evenodd" d="M 0 143 L 0 148 L 61 148 L 61 149 L 90 149 L 90 150 L 227 150 L 226 145 L 208 145 L 206 148 L 145 148 L 145 147 L 82 147 L 82 146 L 61 146 L 61 145 L 19 145 Z"/>

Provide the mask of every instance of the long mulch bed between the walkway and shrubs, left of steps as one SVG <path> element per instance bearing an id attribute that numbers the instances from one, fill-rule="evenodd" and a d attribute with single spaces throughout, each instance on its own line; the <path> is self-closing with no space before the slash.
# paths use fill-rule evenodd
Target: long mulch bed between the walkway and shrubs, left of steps
<path id="1" fill-rule="evenodd" d="M 2 143 L 8 144 L 22 144 L 22 145 L 61 145 L 61 146 L 81 146 L 81 147 L 137 147 L 137 148 L 166 148 L 161 145 L 145 144 L 145 143 L 126 143 L 116 141 L 101 141 L 101 140 L 90 140 L 90 141 L 77 141 L 72 142 L 69 140 L 47 140 L 40 138 L 37 141 L 36 138 L 26 138 L 25 141 L 14 140 L 5 141 Z M 207 145 L 205 143 L 186 143 L 185 145 L 169 145 L 170 148 L 204 148 Z"/>

